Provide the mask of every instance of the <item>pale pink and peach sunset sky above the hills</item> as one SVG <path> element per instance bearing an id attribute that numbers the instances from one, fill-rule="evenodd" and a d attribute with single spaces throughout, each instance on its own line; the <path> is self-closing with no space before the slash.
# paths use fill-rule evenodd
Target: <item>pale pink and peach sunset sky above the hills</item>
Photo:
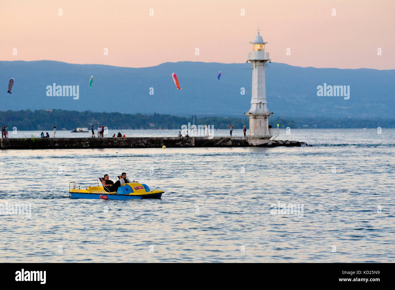
<path id="1" fill-rule="evenodd" d="M 0 10 L 0 60 L 242 63 L 259 21 L 273 62 L 395 69 L 395 0 L 13 0 Z"/>

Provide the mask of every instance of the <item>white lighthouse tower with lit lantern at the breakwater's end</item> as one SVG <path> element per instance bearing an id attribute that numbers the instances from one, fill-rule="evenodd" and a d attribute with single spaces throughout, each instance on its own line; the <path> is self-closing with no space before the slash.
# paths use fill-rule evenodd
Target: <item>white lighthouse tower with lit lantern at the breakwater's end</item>
<path id="1" fill-rule="evenodd" d="M 252 43 L 252 52 L 248 53 L 247 62 L 252 63 L 252 92 L 251 92 L 251 109 L 245 113 L 250 117 L 250 133 L 248 134 L 248 143 L 260 145 L 269 142 L 272 137 L 271 129 L 269 130 L 269 116 L 272 112 L 267 109 L 266 102 L 266 85 L 265 85 L 265 63 L 270 61 L 269 52 L 265 54 L 265 44 L 262 36 L 255 37 Z"/>

